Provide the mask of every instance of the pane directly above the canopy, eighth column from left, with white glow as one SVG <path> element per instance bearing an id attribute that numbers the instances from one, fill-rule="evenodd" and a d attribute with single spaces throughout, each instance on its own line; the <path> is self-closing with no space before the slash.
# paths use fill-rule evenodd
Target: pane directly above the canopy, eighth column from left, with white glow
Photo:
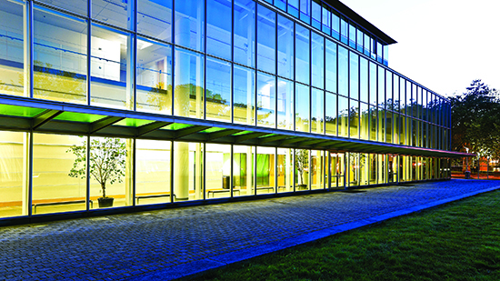
<path id="1" fill-rule="evenodd" d="M 275 76 L 257 75 L 257 125 L 275 127 Z"/>

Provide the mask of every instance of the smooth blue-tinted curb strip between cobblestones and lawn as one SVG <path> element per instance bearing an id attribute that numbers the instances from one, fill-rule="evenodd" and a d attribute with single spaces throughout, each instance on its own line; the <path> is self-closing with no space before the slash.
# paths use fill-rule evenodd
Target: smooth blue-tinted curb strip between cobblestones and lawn
<path id="1" fill-rule="evenodd" d="M 127 278 L 126 280 L 172 280 L 172 279 L 191 279 L 196 276 L 201 276 L 205 271 L 214 270 L 221 268 L 230 264 L 235 264 L 238 262 L 243 262 L 245 260 L 255 258 L 257 256 L 264 256 L 276 251 L 285 250 L 294 246 L 304 246 L 307 243 L 315 242 L 319 239 L 323 239 L 327 236 L 333 236 L 338 233 L 346 232 L 359 228 L 362 226 L 369 226 L 372 224 L 380 223 L 387 219 L 391 219 L 397 216 L 405 216 L 415 212 L 419 212 L 425 209 L 433 208 L 435 206 L 442 206 L 450 202 L 458 201 L 466 197 L 476 196 L 478 194 L 494 191 L 499 189 L 500 186 L 490 187 L 483 190 L 467 193 L 460 196 L 454 196 L 442 200 L 437 200 L 435 202 L 427 203 L 421 206 L 413 206 L 407 209 L 398 210 L 390 212 L 380 216 L 373 216 L 358 220 L 355 222 L 343 224 L 340 226 L 334 226 L 318 230 L 312 233 L 308 233 L 302 236 L 295 236 L 286 238 L 284 240 L 272 242 L 261 246 L 252 246 L 239 251 L 226 253 L 219 256 L 212 256 L 205 258 L 203 260 L 197 260 L 195 262 L 186 263 L 178 266 L 171 266 L 162 270 L 145 273 L 141 276 L 133 276 Z"/>

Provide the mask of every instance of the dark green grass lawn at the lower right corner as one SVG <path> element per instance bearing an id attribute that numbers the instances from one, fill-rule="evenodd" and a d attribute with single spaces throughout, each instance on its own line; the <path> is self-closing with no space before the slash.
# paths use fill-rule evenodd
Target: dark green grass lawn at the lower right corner
<path id="1" fill-rule="evenodd" d="M 500 191 L 330 236 L 198 280 L 500 280 Z"/>

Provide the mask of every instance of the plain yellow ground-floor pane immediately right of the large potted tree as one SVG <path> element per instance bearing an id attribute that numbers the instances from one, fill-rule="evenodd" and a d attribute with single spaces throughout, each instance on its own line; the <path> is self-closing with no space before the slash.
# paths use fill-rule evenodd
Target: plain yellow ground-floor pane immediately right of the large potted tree
<path id="1" fill-rule="evenodd" d="M 135 144 L 135 205 L 171 202 L 172 143 L 138 139 Z"/>

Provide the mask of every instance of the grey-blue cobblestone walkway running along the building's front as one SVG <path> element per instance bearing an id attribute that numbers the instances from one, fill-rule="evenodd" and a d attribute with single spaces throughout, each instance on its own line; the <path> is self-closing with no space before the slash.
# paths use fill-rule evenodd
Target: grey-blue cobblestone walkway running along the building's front
<path id="1" fill-rule="evenodd" d="M 170 279 L 245 256 L 231 258 L 238 253 L 285 247 L 297 236 L 495 186 L 500 181 L 451 180 L 6 226 L 0 280 Z"/>

